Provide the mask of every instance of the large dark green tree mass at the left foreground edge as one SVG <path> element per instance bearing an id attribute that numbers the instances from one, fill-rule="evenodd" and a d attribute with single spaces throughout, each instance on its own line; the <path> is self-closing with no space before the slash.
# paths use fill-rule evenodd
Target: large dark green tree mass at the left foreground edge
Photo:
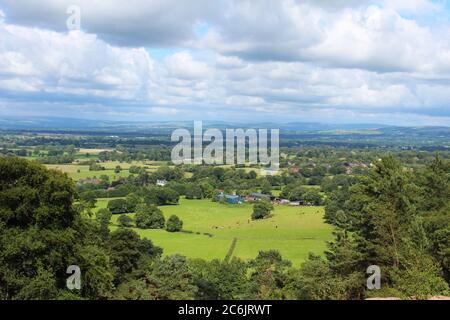
<path id="1" fill-rule="evenodd" d="M 0 299 L 69 297 L 67 267 L 83 261 L 88 245 L 105 253 L 98 224 L 74 209 L 74 184 L 66 175 L 17 158 L 0 158 L 0 172 Z M 107 263 L 95 268 L 110 271 Z M 104 287 L 91 285 L 92 291 Z"/>

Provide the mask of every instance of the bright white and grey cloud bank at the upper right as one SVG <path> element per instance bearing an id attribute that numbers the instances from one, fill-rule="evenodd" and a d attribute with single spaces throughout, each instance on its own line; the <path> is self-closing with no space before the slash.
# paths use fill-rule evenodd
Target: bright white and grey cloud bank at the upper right
<path id="1" fill-rule="evenodd" d="M 304 61 L 378 72 L 450 67 L 450 38 L 441 29 L 404 18 L 388 2 L 333 11 L 306 3 L 233 2 L 201 46 L 250 61 Z M 398 7 L 438 8 L 425 0 Z"/>

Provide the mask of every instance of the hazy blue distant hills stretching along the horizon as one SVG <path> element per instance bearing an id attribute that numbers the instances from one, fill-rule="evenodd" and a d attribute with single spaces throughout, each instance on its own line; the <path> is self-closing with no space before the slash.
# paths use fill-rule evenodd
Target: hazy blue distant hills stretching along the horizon
<path id="1" fill-rule="evenodd" d="M 108 121 L 70 118 L 8 117 L 0 118 L 0 130 L 41 133 L 72 133 L 105 136 L 164 136 L 170 137 L 178 128 L 191 129 L 193 121 Z M 359 143 L 359 146 L 401 144 L 432 145 L 443 150 L 450 148 L 450 127 L 395 127 L 382 124 L 326 124 L 326 123 L 275 123 L 275 122 L 225 122 L 203 121 L 204 128 L 267 128 L 280 129 L 284 143 L 296 145 L 339 142 Z M 288 142 L 290 141 L 290 142 Z"/>

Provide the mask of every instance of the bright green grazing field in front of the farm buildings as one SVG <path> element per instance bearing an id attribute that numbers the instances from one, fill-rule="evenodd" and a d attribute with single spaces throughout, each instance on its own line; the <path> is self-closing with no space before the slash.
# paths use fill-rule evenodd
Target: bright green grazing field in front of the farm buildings
<path id="1" fill-rule="evenodd" d="M 98 207 L 106 207 L 107 201 L 99 199 Z M 273 216 L 261 221 L 250 220 L 249 204 L 233 206 L 211 200 L 180 199 L 180 205 L 161 209 L 166 218 L 172 214 L 179 216 L 184 221 L 183 229 L 193 232 L 135 229 L 161 246 L 165 255 L 180 253 L 191 258 L 223 259 L 233 238 L 237 238 L 233 256 L 252 259 L 260 250 L 276 249 L 298 266 L 309 252 L 323 253 L 326 241 L 332 239 L 333 229 L 323 222 L 321 207 L 275 206 Z M 118 215 L 113 216 L 114 225 L 117 218 Z"/>

